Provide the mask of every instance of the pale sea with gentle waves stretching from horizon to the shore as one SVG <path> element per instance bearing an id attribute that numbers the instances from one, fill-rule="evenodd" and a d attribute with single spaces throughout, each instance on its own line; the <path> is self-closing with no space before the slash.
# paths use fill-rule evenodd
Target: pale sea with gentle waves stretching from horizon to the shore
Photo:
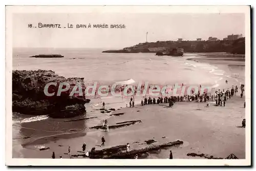
<path id="1" fill-rule="evenodd" d="M 88 48 L 14 48 L 13 70 L 53 70 L 64 77 L 84 78 L 86 84 L 98 82 L 103 85 L 113 83 L 136 84 L 148 82 L 153 85 L 207 85 L 218 88 L 227 73 L 217 66 L 208 63 L 186 60 L 201 58 L 203 54 L 185 53 L 183 57 L 156 56 L 153 53 L 119 54 L 101 53 L 104 49 Z M 30 58 L 39 54 L 59 54 L 63 58 Z M 136 97 L 135 103 L 142 97 Z M 76 122 L 63 122 L 63 119 L 49 118 L 47 113 L 41 116 L 30 116 L 12 113 L 13 145 L 24 143 L 26 138 L 41 138 L 61 134 L 71 129 L 87 130 L 90 125 L 107 118 L 98 109 L 102 102 L 107 108 L 125 107 L 129 100 L 122 97 L 91 97 L 86 104 L 86 124 L 75 125 Z M 84 117 L 84 116 L 79 116 Z M 38 122 L 40 120 L 40 122 Z"/>

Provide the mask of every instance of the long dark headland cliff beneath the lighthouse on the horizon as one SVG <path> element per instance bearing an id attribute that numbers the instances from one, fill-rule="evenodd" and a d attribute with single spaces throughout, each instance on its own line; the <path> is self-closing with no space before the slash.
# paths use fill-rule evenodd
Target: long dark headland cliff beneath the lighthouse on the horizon
<path id="1" fill-rule="evenodd" d="M 227 52 L 233 54 L 245 53 L 245 38 L 237 40 L 218 41 L 157 41 L 139 43 L 117 51 L 103 51 L 102 53 L 157 53 L 182 47 L 186 53 Z"/>

